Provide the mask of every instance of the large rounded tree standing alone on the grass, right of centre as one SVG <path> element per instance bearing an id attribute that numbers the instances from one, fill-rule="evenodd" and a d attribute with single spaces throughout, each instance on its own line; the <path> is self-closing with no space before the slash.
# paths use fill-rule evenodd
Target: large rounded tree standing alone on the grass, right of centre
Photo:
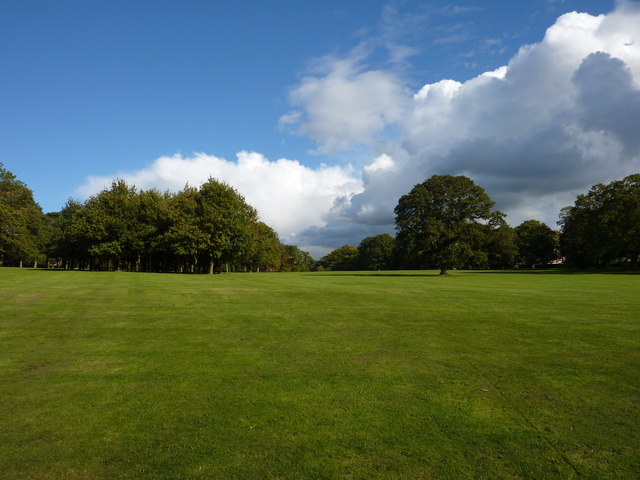
<path id="1" fill-rule="evenodd" d="M 493 202 L 465 176 L 434 175 L 400 197 L 396 241 L 407 265 L 436 267 L 441 275 L 477 253 Z"/>

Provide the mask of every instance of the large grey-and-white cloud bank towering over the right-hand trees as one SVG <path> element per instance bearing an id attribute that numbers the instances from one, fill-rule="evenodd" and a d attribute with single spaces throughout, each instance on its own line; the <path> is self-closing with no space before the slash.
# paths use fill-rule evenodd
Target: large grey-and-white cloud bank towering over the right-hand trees
<path id="1" fill-rule="evenodd" d="M 389 90 L 402 92 L 393 81 Z M 640 9 L 562 15 L 508 65 L 425 85 L 396 107 L 402 115 L 385 120 L 398 137 L 376 145 L 384 156 L 364 168 L 364 190 L 337 199 L 333 223 L 307 230 L 308 242 L 336 231 L 345 240 L 349 223 L 351 243 L 364 225 L 391 231 L 398 197 L 443 173 L 473 178 L 512 224 L 533 217 L 554 227 L 577 193 L 640 170 Z"/>

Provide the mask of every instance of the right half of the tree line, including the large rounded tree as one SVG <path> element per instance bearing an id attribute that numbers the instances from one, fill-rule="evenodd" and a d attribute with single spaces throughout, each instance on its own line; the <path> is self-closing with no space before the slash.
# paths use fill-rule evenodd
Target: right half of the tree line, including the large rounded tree
<path id="1" fill-rule="evenodd" d="M 400 197 L 396 237 L 367 237 L 319 261 L 327 270 L 536 268 L 554 260 L 579 267 L 638 268 L 640 175 L 594 185 L 560 214 L 561 231 L 538 220 L 515 228 L 465 176 L 434 175 Z"/>

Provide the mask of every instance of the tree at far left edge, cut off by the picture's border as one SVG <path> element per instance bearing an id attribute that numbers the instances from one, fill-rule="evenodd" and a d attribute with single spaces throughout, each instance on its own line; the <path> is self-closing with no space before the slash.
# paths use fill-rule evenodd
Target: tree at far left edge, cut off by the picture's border
<path id="1" fill-rule="evenodd" d="M 42 221 L 33 192 L 0 163 L 0 264 L 22 266 L 44 258 L 38 239 Z"/>

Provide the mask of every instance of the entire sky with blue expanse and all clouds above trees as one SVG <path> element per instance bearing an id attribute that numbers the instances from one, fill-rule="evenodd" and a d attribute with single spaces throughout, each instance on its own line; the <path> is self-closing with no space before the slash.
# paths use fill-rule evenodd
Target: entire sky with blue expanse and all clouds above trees
<path id="1" fill-rule="evenodd" d="M 0 3 L 0 162 L 45 212 L 212 176 L 319 257 L 467 175 L 556 228 L 640 171 L 640 3 Z"/>

